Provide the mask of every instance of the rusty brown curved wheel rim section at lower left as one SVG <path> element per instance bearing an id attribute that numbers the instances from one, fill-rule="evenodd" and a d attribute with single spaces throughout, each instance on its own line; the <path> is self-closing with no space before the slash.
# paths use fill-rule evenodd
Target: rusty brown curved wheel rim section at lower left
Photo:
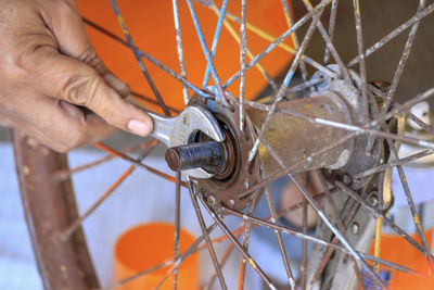
<path id="1" fill-rule="evenodd" d="M 13 146 L 23 207 L 43 287 L 98 288 L 81 228 L 65 242 L 60 238 L 62 230 L 78 217 L 71 179 L 54 180 L 55 172 L 68 167 L 66 155 L 16 130 Z"/>

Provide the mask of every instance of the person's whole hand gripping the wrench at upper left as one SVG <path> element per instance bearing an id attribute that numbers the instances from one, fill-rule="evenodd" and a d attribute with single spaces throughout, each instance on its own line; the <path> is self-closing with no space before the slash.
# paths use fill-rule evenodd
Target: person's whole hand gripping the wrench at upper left
<path id="1" fill-rule="evenodd" d="M 0 124 L 59 152 L 151 117 L 98 58 L 74 0 L 0 0 Z"/>

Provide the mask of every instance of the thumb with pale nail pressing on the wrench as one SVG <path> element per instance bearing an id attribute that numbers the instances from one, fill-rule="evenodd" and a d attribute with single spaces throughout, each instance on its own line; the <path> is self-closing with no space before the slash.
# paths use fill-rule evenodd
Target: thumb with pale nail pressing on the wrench
<path id="1" fill-rule="evenodd" d="M 136 135 L 152 131 L 151 117 L 125 101 L 92 66 L 47 46 L 34 51 L 31 59 L 38 67 L 34 79 L 44 94 L 86 106 L 108 124 Z"/>

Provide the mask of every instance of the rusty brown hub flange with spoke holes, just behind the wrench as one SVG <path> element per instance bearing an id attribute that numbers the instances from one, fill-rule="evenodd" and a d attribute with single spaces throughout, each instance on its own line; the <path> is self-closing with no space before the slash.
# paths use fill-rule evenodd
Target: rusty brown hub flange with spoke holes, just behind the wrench
<path id="1" fill-rule="evenodd" d="M 238 100 L 228 93 L 225 103 L 230 101 L 227 106 L 219 97 L 215 99 L 204 99 L 200 96 L 191 98 L 192 104 L 206 106 L 220 124 L 226 139 L 224 141 L 226 150 L 226 168 L 220 174 L 216 174 L 209 179 L 195 179 L 196 189 L 206 194 L 207 200 L 212 200 L 215 206 L 225 204 L 234 210 L 242 210 L 250 199 L 240 199 L 239 194 L 258 180 L 259 162 L 255 159 L 248 163 L 248 152 L 255 141 L 253 125 L 246 117 L 244 129 L 240 130 L 240 112 Z M 202 141 L 202 140 L 201 140 Z M 250 166 L 247 166 L 250 164 Z"/>

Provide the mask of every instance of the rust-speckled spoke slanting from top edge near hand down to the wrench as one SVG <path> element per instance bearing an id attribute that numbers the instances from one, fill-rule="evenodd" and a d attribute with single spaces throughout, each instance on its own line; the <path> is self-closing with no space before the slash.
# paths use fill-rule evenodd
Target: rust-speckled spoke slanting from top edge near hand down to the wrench
<path id="1" fill-rule="evenodd" d="M 113 11 L 116 14 L 116 18 L 117 18 L 117 21 L 118 21 L 118 23 L 119 23 L 119 25 L 120 25 L 120 27 L 122 27 L 122 29 L 124 31 L 124 35 L 127 38 L 127 40 L 128 40 L 128 42 L 129 42 L 129 45 L 131 47 L 132 52 L 135 53 L 136 61 L 138 62 L 144 78 L 146 79 L 149 86 L 151 87 L 151 90 L 154 93 L 155 98 L 157 99 L 157 101 L 159 103 L 159 106 L 162 108 L 164 114 L 166 116 L 170 116 L 169 110 L 167 109 L 166 104 L 164 103 L 163 98 L 162 98 L 158 89 L 155 86 L 154 80 L 152 79 L 151 75 L 149 74 L 148 68 L 144 65 L 144 63 L 143 63 L 143 61 L 142 61 L 142 59 L 140 56 L 140 52 L 137 50 L 137 47 L 136 47 L 135 42 L 132 41 L 132 37 L 131 37 L 131 35 L 130 35 L 130 33 L 129 33 L 129 30 L 127 28 L 127 25 L 124 22 L 124 18 L 122 16 L 120 12 L 119 12 L 119 9 L 117 8 L 116 0 L 110 0 L 110 3 L 112 4 Z"/>

